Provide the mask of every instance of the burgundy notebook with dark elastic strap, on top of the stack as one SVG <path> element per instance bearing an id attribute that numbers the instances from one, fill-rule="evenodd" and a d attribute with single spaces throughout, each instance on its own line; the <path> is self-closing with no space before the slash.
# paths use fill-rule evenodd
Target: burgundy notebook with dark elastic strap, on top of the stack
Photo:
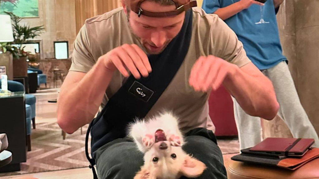
<path id="1" fill-rule="evenodd" d="M 303 155 L 315 143 L 314 139 L 266 138 L 249 151 L 282 155 Z"/>

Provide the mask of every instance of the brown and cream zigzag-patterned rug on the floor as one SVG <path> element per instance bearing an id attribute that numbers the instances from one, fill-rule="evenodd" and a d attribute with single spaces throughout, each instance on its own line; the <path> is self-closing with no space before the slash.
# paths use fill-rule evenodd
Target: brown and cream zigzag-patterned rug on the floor
<path id="1" fill-rule="evenodd" d="M 88 125 L 69 135 L 63 140 L 62 131 L 56 122 L 40 123 L 32 129 L 32 151 L 27 153 L 27 161 L 21 163 L 21 171 L 0 173 L 1 176 L 19 175 L 71 168 L 88 167 L 85 156 L 85 134 Z M 90 143 L 90 141 L 89 141 Z M 239 151 L 239 142 L 233 140 L 218 140 L 223 154 L 235 154 Z M 90 148 L 90 145 L 89 145 Z"/>

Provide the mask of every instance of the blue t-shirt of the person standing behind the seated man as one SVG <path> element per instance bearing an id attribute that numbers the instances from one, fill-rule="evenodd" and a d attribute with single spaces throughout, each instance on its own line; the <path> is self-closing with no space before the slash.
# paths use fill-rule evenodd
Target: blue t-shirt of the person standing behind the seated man
<path id="1" fill-rule="evenodd" d="M 202 8 L 206 13 L 213 13 L 238 2 L 239 0 L 204 0 Z M 225 23 L 236 33 L 243 43 L 248 58 L 259 68 L 268 69 L 281 61 L 286 61 L 280 45 L 277 19 L 273 0 L 266 1 L 263 7 L 263 19 L 268 24 L 255 24 L 261 18 L 260 6 L 251 5 Z"/>

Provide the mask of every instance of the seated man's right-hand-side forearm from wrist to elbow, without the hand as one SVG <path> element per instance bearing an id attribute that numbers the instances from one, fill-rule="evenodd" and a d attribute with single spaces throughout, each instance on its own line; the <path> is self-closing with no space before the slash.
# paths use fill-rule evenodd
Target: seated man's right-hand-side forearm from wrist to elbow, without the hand
<path id="1" fill-rule="evenodd" d="M 267 120 L 276 116 L 279 104 L 272 82 L 266 76 L 253 76 L 234 66 L 223 84 L 247 114 Z"/>

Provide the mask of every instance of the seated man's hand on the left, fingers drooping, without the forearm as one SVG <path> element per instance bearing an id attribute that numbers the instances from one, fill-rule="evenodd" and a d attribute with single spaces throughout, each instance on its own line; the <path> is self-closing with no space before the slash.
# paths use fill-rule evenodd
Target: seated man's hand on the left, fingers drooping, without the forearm
<path id="1" fill-rule="evenodd" d="M 144 77 L 147 77 L 152 71 L 146 54 L 135 44 L 124 44 L 117 47 L 101 56 L 99 60 L 104 61 L 105 67 L 109 71 L 114 72 L 117 68 L 125 77 L 129 77 L 129 73 L 126 68 L 130 70 L 131 74 L 136 79 L 141 77 L 140 73 Z"/>

